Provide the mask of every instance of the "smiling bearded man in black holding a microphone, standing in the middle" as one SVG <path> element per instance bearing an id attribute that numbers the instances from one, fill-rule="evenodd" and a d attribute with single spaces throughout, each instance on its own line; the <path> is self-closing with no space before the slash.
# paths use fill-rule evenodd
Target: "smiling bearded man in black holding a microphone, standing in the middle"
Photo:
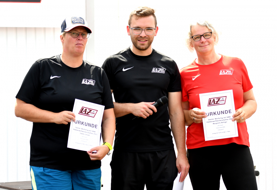
<path id="1" fill-rule="evenodd" d="M 172 189 L 177 169 L 182 172 L 180 181 L 189 169 L 180 73 L 173 59 L 151 48 L 159 29 L 154 13 L 148 7 L 133 11 L 127 26 L 133 45 L 102 65 L 116 101 L 111 189 L 139 190 L 144 184 L 147 190 Z M 152 104 L 163 96 L 168 104 L 156 109 Z"/>

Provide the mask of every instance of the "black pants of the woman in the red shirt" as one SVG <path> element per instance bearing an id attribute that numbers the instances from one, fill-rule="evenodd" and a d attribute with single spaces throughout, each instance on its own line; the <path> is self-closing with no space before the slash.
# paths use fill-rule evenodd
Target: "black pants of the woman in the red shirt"
<path id="1" fill-rule="evenodd" d="M 219 189 L 220 175 L 227 190 L 257 190 L 249 147 L 235 143 L 187 150 L 194 190 Z"/>

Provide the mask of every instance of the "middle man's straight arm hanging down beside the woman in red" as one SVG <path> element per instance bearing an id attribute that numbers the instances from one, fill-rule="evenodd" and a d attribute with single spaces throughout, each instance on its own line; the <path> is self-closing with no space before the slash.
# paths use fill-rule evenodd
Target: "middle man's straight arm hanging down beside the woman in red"
<path id="1" fill-rule="evenodd" d="M 182 172 L 179 181 L 183 182 L 188 174 L 190 165 L 187 160 L 186 152 L 186 127 L 182 109 L 181 92 L 168 93 L 168 111 L 171 130 L 177 147 L 176 166 L 178 168 L 178 172 Z"/>

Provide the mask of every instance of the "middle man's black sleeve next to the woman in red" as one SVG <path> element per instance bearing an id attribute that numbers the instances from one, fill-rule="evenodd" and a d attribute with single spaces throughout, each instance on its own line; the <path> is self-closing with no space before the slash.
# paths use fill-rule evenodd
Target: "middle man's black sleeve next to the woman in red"
<path id="1" fill-rule="evenodd" d="M 179 92 L 181 88 L 181 76 L 177 64 L 172 60 L 170 83 L 168 85 L 168 92 Z"/>

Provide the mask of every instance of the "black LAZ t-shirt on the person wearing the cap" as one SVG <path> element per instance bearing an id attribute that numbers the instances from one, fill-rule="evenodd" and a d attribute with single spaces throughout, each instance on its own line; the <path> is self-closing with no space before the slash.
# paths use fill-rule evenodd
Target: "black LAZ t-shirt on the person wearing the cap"
<path id="1" fill-rule="evenodd" d="M 39 59 L 28 71 L 16 95 L 26 103 L 52 111 L 72 111 L 75 99 L 113 108 L 107 76 L 101 67 L 83 61 L 72 68 L 60 55 Z M 30 165 L 62 170 L 90 170 L 101 166 L 85 151 L 67 148 L 70 123 L 33 123 L 30 139 Z"/>

